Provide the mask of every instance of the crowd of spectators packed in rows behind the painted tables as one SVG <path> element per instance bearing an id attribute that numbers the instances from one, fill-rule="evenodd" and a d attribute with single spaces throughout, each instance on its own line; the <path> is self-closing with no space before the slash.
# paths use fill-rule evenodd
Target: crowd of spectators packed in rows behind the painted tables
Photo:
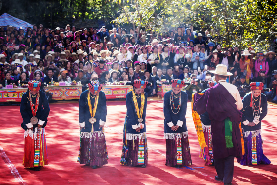
<path id="1" fill-rule="evenodd" d="M 179 78 L 210 80 L 218 64 L 233 75 L 227 81 L 236 86 L 263 82 L 277 102 L 277 54 L 238 46 L 222 48 L 213 30 L 198 32 L 193 25 L 164 33 L 113 28 L 64 29 L 36 25 L 27 30 L 1 27 L 1 84 L 18 80 L 87 81 L 101 78 L 114 83 L 144 79 L 152 83 L 145 91 L 157 94 L 157 82 Z M 205 84 L 193 82 L 189 94 L 201 92 Z M 240 90 L 241 97 L 247 91 Z"/>

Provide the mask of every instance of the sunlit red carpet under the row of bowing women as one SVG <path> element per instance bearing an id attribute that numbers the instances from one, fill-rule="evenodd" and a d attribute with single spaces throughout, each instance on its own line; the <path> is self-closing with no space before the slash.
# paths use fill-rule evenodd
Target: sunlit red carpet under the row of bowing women
<path id="1" fill-rule="evenodd" d="M 28 185 L 142 185 L 142 184 L 222 184 L 214 180 L 214 167 L 204 166 L 199 158 L 199 143 L 192 121 L 191 105 L 188 104 L 187 127 L 193 165 L 176 169 L 165 166 L 165 140 L 163 139 L 163 103 L 147 104 L 148 167 L 135 168 L 120 165 L 122 131 L 126 114 L 125 102 L 107 102 L 108 117 L 105 127 L 108 147 L 108 164 L 92 169 L 77 162 L 79 152 L 79 104 L 50 104 L 50 115 L 46 126 L 49 165 L 40 171 L 22 166 L 24 152 L 24 130 L 19 106 L 1 106 L 0 142 L 3 151 Z M 277 107 L 269 105 L 268 115 L 262 122 L 264 154 L 270 165 L 241 166 L 235 162 L 233 184 L 277 184 Z M 1 151 L 0 184 L 20 184 L 3 160 Z M 23 183 L 21 183 L 23 184 Z"/>

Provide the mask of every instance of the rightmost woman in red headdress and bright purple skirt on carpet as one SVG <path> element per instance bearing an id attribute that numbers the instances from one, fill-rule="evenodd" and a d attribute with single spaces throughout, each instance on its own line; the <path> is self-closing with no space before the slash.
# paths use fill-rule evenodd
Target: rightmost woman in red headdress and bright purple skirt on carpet
<path id="1" fill-rule="evenodd" d="M 262 120 L 267 115 L 267 97 L 261 93 L 264 84 L 262 82 L 251 82 L 251 93 L 246 94 L 243 99 L 242 131 L 245 154 L 243 159 L 238 158 L 241 165 L 270 164 L 270 160 L 263 153 L 262 146 Z M 247 88 L 247 87 L 246 87 Z"/>

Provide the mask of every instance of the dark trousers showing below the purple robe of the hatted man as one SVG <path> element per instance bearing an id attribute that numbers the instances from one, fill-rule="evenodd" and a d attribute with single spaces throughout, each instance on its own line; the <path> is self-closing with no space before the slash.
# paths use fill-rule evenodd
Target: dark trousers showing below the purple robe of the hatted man
<path id="1" fill-rule="evenodd" d="M 234 174 L 234 156 L 228 156 L 221 159 L 214 159 L 214 167 L 220 179 L 224 183 L 231 183 Z"/>

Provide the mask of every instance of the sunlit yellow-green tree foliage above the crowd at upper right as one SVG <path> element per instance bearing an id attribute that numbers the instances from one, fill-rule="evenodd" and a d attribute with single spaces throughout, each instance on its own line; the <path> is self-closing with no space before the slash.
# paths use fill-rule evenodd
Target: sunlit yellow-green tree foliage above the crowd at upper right
<path id="1" fill-rule="evenodd" d="M 113 0 L 120 16 L 112 22 L 132 24 L 159 33 L 192 23 L 198 31 L 212 30 L 222 46 L 262 50 L 277 37 L 274 0 Z M 137 8 L 138 7 L 138 8 Z"/>

